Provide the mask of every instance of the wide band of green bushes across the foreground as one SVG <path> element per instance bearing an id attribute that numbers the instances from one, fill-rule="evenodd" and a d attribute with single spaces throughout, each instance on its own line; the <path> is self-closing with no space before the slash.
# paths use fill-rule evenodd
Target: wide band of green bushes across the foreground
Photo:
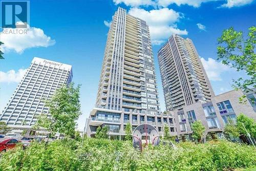
<path id="1" fill-rule="evenodd" d="M 85 138 L 55 140 L 45 149 L 34 142 L 0 158 L 0 171 L 9 170 L 223 170 L 256 167 L 256 148 L 228 141 L 148 145 L 140 152 L 130 141 Z"/>

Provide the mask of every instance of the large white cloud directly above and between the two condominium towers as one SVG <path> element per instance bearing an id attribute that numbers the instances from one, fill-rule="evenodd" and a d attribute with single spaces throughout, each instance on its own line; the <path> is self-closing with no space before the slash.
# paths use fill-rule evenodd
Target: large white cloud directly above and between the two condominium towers
<path id="1" fill-rule="evenodd" d="M 129 14 L 146 21 L 150 29 L 153 45 L 160 45 L 172 34 L 187 35 L 187 31 L 177 28 L 176 23 L 183 17 L 181 13 L 173 9 L 162 8 L 146 11 L 139 8 L 131 8 Z"/>

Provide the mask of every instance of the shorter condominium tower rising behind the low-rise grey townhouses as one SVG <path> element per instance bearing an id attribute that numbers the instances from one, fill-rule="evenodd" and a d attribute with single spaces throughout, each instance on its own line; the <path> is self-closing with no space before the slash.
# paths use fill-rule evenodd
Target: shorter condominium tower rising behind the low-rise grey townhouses
<path id="1" fill-rule="evenodd" d="M 214 95 L 197 50 L 189 38 L 172 35 L 158 51 L 166 110 L 181 110 Z"/>

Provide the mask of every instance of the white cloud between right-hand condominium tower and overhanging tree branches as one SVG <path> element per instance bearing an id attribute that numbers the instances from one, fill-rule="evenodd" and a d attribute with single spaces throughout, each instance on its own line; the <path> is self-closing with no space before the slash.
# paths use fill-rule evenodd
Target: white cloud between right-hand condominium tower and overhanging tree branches
<path id="1" fill-rule="evenodd" d="M 221 81 L 221 75 L 223 73 L 233 71 L 232 68 L 224 65 L 223 63 L 221 63 L 221 61 L 218 62 L 212 58 L 208 58 L 208 60 L 205 60 L 202 57 L 200 59 L 203 63 L 207 76 L 211 81 Z"/>

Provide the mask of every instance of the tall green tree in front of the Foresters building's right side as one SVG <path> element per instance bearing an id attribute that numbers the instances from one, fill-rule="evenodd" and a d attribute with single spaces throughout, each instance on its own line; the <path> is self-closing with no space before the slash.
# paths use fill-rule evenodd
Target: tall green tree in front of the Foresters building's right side
<path id="1" fill-rule="evenodd" d="M 63 85 L 57 89 L 54 95 L 45 101 L 50 116 L 46 113 L 39 115 L 35 127 L 46 129 L 49 132 L 49 137 L 54 136 L 57 132 L 69 137 L 74 135 L 76 120 L 81 115 L 79 91 L 80 85 L 75 88 L 74 83 Z"/>

